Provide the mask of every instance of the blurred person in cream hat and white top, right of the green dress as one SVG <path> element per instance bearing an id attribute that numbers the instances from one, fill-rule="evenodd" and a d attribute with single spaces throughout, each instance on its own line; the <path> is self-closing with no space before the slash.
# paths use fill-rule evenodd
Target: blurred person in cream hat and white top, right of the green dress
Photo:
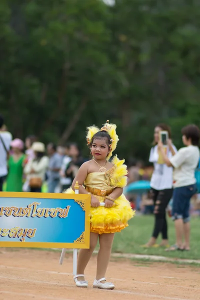
<path id="1" fill-rule="evenodd" d="M 35 141 L 32 144 L 34 158 L 30 159 L 24 167 L 31 192 L 41 192 L 48 167 L 48 157 L 44 154 L 45 146 L 42 142 Z"/>

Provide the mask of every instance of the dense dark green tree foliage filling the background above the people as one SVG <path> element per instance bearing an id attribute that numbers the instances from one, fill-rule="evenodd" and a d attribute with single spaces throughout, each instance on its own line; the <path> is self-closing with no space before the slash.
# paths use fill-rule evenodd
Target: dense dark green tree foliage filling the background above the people
<path id="1" fill-rule="evenodd" d="M 179 147 L 200 124 L 199 25 L 197 0 L 1 0 L 0 113 L 14 136 L 85 154 L 85 127 L 106 119 L 119 157 L 146 160 L 160 121 Z"/>

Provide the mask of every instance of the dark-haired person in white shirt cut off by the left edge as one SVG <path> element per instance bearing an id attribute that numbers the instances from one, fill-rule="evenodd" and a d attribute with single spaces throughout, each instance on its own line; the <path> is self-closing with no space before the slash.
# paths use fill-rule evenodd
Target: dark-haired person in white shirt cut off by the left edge
<path id="1" fill-rule="evenodd" d="M 12 135 L 4 130 L 4 119 L 0 115 L 0 191 L 7 175 L 7 154 L 10 148 Z"/>

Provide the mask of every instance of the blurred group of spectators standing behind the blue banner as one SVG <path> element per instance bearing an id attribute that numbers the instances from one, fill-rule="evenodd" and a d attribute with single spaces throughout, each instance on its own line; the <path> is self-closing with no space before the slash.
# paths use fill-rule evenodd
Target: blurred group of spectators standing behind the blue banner
<path id="1" fill-rule="evenodd" d="M 63 147 L 50 142 L 45 148 L 34 135 L 12 139 L 0 115 L 0 191 L 6 182 L 5 191 L 41 192 L 47 182 L 48 192 L 61 192 L 84 161 L 76 143 Z"/>

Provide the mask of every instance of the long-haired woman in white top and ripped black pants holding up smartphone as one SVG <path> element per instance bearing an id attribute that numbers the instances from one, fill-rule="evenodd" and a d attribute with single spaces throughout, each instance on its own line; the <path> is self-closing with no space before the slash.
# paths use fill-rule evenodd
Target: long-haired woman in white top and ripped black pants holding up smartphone
<path id="1" fill-rule="evenodd" d="M 154 165 L 154 171 L 150 181 L 150 197 L 154 202 L 154 227 L 152 236 L 149 241 L 144 245 L 145 247 L 158 246 L 156 239 L 161 233 L 162 241 L 160 246 L 168 246 L 167 236 L 167 222 L 166 222 L 166 207 L 172 196 L 172 167 L 168 167 L 163 160 L 160 160 L 162 156 L 158 151 L 158 142 L 160 139 L 161 131 L 166 131 L 166 135 L 163 136 L 163 140 L 167 140 L 165 146 L 165 153 L 170 159 L 176 153 L 176 147 L 171 143 L 171 130 L 166 124 L 158 124 L 154 128 L 154 141 L 153 147 L 150 150 L 149 161 Z M 164 132 L 163 132 L 164 133 Z M 163 134 L 164 135 L 164 134 Z"/>

